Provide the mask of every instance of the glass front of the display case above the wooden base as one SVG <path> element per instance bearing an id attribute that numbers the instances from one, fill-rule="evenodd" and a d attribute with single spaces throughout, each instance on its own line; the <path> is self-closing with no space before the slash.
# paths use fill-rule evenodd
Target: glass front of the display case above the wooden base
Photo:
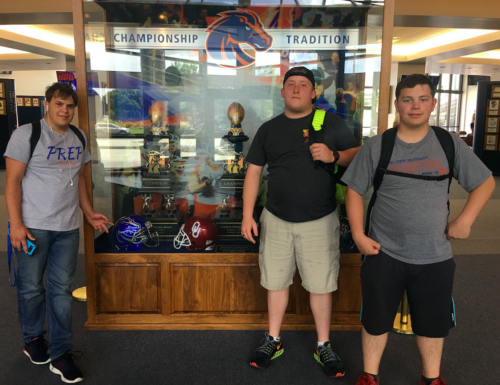
<path id="1" fill-rule="evenodd" d="M 94 208 L 123 218 L 96 234 L 95 252 L 186 252 L 174 240 L 200 215 L 215 222 L 217 246 L 189 251 L 257 251 L 240 235 L 245 155 L 284 111 L 284 74 L 308 67 L 317 108 L 360 143 L 376 134 L 382 11 L 351 1 L 84 2 Z M 264 172 L 256 218 L 266 185 Z"/>

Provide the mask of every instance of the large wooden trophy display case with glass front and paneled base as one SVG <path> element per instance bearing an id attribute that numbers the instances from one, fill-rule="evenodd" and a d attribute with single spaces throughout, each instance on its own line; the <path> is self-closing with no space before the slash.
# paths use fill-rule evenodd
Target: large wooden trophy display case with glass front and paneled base
<path id="1" fill-rule="evenodd" d="M 284 74 L 310 68 L 316 106 L 360 143 L 383 110 L 387 6 L 334 3 L 73 2 L 88 185 L 115 223 L 109 234 L 85 224 L 86 328 L 267 327 L 258 238 L 241 236 L 243 185 L 257 130 L 284 111 Z M 264 167 L 257 221 L 267 180 Z M 360 328 L 360 266 L 341 254 L 334 329 Z M 299 276 L 283 328 L 314 328 Z"/>

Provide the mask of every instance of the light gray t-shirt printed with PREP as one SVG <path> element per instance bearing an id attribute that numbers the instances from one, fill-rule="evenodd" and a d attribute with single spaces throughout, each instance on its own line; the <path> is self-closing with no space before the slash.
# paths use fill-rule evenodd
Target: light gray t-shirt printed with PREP
<path id="1" fill-rule="evenodd" d="M 80 227 L 78 171 L 90 161 L 87 144 L 83 150 L 73 131 L 68 129 L 63 135 L 58 134 L 45 119 L 41 120 L 41 126 L 40 140 L 31 159 L 31 124 L 12 133 L 4 154 L 27 164 L 21 182 L 23 223 L 41 230 L 74 230 Z M 83 131 L 82 134 L 86 138 Z"/>

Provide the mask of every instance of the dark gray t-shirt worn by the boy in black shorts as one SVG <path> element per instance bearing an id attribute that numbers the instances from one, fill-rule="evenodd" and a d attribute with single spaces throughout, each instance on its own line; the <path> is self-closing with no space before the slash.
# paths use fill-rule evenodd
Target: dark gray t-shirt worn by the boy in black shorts
<path id="1" fill-rule="evenodd" d="M 491 171 L 457 135 L 454 177 L 471 192 L 491 175 Z M 373 185 L 380 159 L 382 135 L 370 138 L 348 167 L 342 181 L 364 195 Z M 389 169 L 410 174 L 448 173 L 448 161 L 434 133 L 418 143 L 396 137 Z M 370 237 L 391 257 L 411 264 L 436 263 L 452 258 L 446 239 L 448 224 L 448 179 L 426 181 L 385 175 L 377 192 L 371 216 Z"/>

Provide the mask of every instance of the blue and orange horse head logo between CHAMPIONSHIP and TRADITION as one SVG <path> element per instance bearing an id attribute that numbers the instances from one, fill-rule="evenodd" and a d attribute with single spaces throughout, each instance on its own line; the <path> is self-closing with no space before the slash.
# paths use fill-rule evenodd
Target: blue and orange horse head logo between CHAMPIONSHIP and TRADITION
<path id="1" fill-rule="evenodd" d="M 205 31 L 209 34 L 207 52 L 219 66 L 244 68 L 252 65 L 255 59 L 243 51 L 241 44 L 248 44 L 258 52 L 266 52 L 271 48 L 273 38 L 264 30 L 264 25 L 255 12 L 226 11 L 219 15 L 222 17 Z"/>

